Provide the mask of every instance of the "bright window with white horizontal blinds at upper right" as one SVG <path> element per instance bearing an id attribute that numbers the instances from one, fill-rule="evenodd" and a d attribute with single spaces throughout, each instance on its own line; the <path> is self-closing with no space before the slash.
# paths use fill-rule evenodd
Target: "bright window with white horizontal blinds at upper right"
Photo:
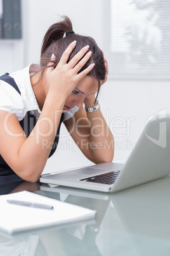
<path id="1" fill-rule="evenodd" d="M 170 80 L 170 1 L 103 0 L 109 78 Z"/>

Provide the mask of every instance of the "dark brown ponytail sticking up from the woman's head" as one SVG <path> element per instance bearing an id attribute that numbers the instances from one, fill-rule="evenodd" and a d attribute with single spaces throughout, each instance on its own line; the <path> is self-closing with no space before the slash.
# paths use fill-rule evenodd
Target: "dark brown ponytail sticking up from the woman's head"
<path id="1" fill-rule="evenodd" d="M 72 22 L 67 16 L 63 16 L 63 20 L 61 22 L 57 22 L 51 25 L 42 41 L 41 57 L 42 54 L 46 52 L 49 45 L 59 40 L 60 38 L 63 38 L 64 33 L 68 31 L 72 31 Z"/>

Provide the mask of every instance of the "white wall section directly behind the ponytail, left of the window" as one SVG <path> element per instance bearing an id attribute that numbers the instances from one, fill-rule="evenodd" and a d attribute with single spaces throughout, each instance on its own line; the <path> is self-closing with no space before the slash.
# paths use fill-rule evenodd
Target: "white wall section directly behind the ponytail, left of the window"
<path id="1" fill-rule="evenodd" d="M 39 61 L 42 38 L 48 27 L 63 15 L 72 20 L 74 31 L 93 36 L 101 43 L 102 0 L 29 0 L 23 3 L 25 37 L 25 64 Z M 99 24 L 99 25 L 98 25 Z"/>

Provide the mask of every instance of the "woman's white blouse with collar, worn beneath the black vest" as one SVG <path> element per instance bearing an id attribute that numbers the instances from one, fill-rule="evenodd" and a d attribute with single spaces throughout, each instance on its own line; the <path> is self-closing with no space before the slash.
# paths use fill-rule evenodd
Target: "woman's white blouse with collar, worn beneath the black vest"
<path id="1" fill-rule="evenodd" d="M 41 110 L 37 104 L 36 96 L 30 83 L 30 74 L 32 70 L 39 68 L 36 64 L 30 64 L 27 68 L 10 73 L 14 78 L 21 95 L 8 83 L 0 80 L 0 110 L 5 110 L 13 113 L 18 121 L 22 120 L 27 111 L 32 111 L 32 114 L 39 118 Z M 64 113 L 64 119 L 71 118 L 79 108 L 75 106 L 71 110 Z"/>

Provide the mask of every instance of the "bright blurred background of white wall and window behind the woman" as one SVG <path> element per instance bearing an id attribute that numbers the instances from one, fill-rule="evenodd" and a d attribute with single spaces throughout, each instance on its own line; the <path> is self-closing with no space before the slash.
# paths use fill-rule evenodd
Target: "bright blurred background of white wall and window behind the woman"
<path id="1" fill-rule="evenodd" d="M 3 3 L 8 1 L 0 0 L 1 21 Z M 108 60 L 108 81 L 99 101 L 114 134 L 114 160 L 127 159 L 148 118 L 170 111 L 170 1 L 21 0 L 20 4 L 20 36 L 4 38 L 0 24 L 1 75 L 39 63 L 45 32 L 67 15 L 74 31 L 93 37 Z M 44 173 L 89 164 L 62 125 L 58 149 Z"/>

